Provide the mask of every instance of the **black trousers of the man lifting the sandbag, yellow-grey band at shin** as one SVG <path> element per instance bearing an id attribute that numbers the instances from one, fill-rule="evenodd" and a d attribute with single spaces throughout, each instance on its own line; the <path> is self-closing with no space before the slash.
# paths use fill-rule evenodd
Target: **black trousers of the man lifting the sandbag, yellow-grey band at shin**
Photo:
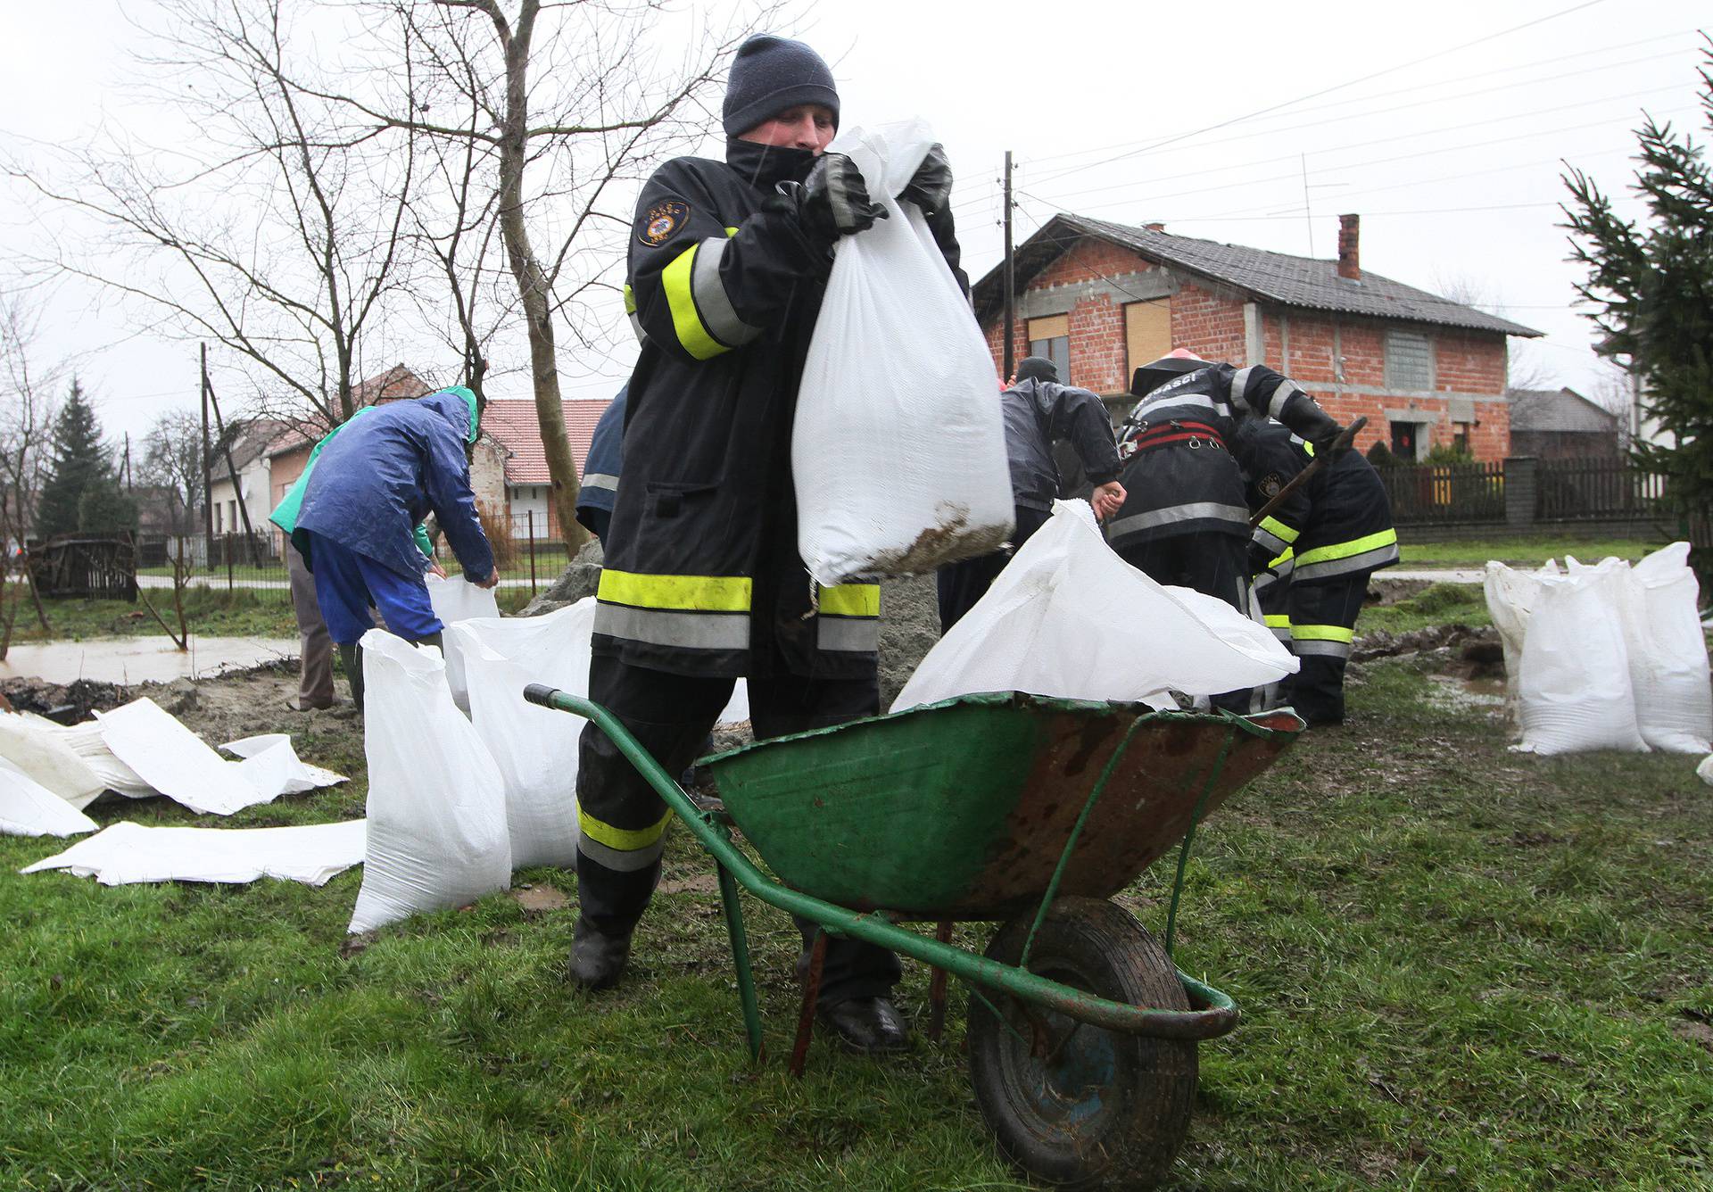
<path id="1" fill-rule="evenodd" d="M 670 675 L 596 654 L 589 665 L 589 699 L 624 723 L 668 774 L 695 760 L 714 718 L 731 699 L 731 678 Z M 880 707 L 875 675 L 803 678 L 773 675 L 749 680 L 750 723 L 757 740 L 807 733 Z M 603 935 L 629 935 L 660 882 L 660 855 L 671 819 L 665 802 L 594 724 L 586 724 L 577 769 L 577 903 Z M 803 933 L 803 964 L 814 925 Z M 827 939 L 821 1004 L 887 997 L 901 976 L 898 957 L 853 939 Z"/>

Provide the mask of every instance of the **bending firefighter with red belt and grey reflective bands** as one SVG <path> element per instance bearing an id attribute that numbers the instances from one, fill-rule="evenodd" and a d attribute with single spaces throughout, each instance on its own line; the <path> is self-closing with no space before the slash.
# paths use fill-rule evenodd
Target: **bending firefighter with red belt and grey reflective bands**
<path id="1" fill-rule="evenodd" d="M 1192 587 L 1249 613 L 1249 505 L 1230 452 L 1238 421 L 1278 418 L 1331 447 L 1340 426 L 1297 382 L 1264 365 L 1233 368 L 1184 349 L 1136 370 L 1119 437 L 1124 509 L 1107 527 L 1113 550 L 1160 584 Z M 1215 699 L 1247 711 L 1249 694 Z"/>

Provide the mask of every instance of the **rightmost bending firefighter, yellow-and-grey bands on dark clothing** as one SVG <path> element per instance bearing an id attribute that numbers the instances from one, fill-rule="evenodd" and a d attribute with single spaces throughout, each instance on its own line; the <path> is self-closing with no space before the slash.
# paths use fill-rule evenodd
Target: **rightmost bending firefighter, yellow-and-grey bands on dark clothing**
<path id="1" fill-rule="evenodd" d="M 1249 423 L 1232 440 L 1261 509 L 1314 459 L 1314 444 L 1278 423 Z M 1254 531 L 1250 569 L 1273 635 L 1302 663 L 1280 695 L 1310 724 L 1345 719 L 1345 663 L 1369 575 L 1398 562 L 1391 502 L 1358 452 L 1328 461 Z"/>

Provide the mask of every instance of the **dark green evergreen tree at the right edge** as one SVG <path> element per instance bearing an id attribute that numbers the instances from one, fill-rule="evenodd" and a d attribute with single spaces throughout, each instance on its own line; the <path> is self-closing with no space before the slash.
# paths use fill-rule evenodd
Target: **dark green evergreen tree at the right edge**
<path id="1" fill-rule="evenodd" d="M 1701 111 L 1713 132 L 1713 38 L 1703 50 Z M 1581 170 L 1566 207 L 1571 260 L 1588 267 L 1576 289 L 1600 307 L 1600 351 L 1627 356 L 1643 382 L 1643 409 L 1672 437 L 1634 445 L 1638 462 L 1665 473 L 1684 512 L 1713 507 L 1713 175 L 1701 146 L 1651 116 L 1631 187 L 1648 204 L 1638 226 Z"/>

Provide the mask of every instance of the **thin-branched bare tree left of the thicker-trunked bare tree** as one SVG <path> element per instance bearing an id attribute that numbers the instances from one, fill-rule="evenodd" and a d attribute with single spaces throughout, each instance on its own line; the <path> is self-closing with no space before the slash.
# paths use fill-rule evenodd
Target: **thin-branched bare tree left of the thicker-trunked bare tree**
<path id="1" fill-rule="evenodd" d="M 159 0 L 144 98 L 194 128 L 156 149 L 118 139 L 63 176 L 7 171 L 104 235 L 46 269 L 135 300 L 159 331 L 223 344 L 276 414 L 353 413 L 363 343 L 399 283 L 416 137 L 343 122 L 312 74 L 332 9 L 298 0 Z M 320 22 L 320 24 L 317 24 Z"/>

